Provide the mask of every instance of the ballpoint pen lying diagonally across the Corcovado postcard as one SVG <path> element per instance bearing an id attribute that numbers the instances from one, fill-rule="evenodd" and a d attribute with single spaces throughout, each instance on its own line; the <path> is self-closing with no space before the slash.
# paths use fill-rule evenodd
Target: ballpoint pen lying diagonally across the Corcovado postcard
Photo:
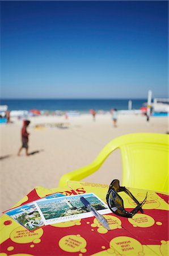
<path id="1" fill-rule="evenodd" d="M 90 212 L 96 217 L 96 219 L 99 221 L 99 223 L 104 226 L 105 229 L 111 230 L 109 228 L 107 220 L 102 216 L 102 214 L 98 213 L 94 207 L 83 197 L 80 197 L 82 203 L 90 210 Z"/>

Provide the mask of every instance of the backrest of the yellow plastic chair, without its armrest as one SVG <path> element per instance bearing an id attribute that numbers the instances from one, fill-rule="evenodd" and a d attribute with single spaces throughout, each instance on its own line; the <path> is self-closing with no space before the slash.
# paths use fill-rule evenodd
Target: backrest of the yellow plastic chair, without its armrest
<path id="1" fill-rule="evenodd" d="M 168 135 L 140 133 L 120 139 L 122 184 L 168 191 Z"/>

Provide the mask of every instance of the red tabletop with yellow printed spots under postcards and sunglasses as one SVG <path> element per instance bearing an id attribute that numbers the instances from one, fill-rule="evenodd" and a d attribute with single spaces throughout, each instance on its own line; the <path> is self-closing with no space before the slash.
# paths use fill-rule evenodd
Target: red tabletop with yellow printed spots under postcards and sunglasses
<path id="1" fill-rule="evenodd" d="M 36 187 L 17 205 L 25 204 L 54 192 L 64 195 L 94 192 L 105 201 L 108 185 L 73 182 L 67 188 Z M 130 189 L 138 201 L 146 191 Z M 134 208 L 126 194 L 125 208 Z M 29 232 L 4 214 L 0 218 L 0 256 L 7 255 L 168 255 L 168 195 L 148 191 L 144 213 L 133 218 L 106 214 L 111 231 L 104 229 L 95 217 L 44 226 Z"/>

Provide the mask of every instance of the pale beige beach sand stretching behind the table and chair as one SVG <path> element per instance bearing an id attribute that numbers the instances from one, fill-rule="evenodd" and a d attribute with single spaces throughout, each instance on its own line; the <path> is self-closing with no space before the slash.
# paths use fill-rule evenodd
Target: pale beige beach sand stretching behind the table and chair
<path id="1" fill-rule="evenodd" d="M 112 139 L 128 133 L 166 133 L 167 117 L 151 117 L 146 122 L 142 115 L 119 114 L 117 128 L 113 127 L 110 114 L 90 114 L 78 117 L 31 117 L 28 127 L 29 152 L 32 155 L 17 156 L 22 120 L 11 118 L 13 123 L 1 124 L 1 212 L 10 209 L 34 187 L 58 187 L 63 174 L 91 163 L 102 148 Z M 69 123 L 67 129 L 47 127 L 35 129 L 42 123 Z M 34 152 L 34 154 L 33 154 Z M 109 184 L 122 177 L 120 151 L 114 151 L 99 171 L 84 181 Z"/>

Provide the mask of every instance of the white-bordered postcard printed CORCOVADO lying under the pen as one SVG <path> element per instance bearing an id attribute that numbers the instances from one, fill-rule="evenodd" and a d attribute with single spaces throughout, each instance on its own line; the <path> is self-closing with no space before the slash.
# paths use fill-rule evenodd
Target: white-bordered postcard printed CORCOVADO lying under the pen
<path id="1" fill-rule="evenodd" d="M 36 201 L 35 204 L 45 225 L 92 217 L 92 213 L 83 205 L 80 197 L 81 195 L 73 195 L 48 200 L 41 199 Z M 98 213 L 111 213 L 107 204 L 94 193 L 83 194 L 83 197 L 87 199 Z"/>

